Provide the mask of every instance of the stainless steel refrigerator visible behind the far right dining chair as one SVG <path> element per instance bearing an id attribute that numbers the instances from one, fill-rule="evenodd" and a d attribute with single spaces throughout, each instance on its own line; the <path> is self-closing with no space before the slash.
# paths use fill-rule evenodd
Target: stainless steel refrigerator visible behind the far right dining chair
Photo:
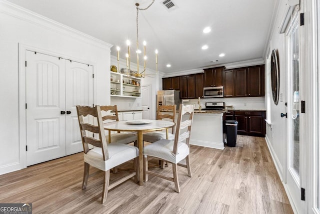
<path id="1" fill-rule="evenodd" d="M 158 105 L 176 105 L 179 108 L 181 103 L 180 91 L 177 90 L 164 90 L 158 91 L 156 96 L 156 106 Z"/>

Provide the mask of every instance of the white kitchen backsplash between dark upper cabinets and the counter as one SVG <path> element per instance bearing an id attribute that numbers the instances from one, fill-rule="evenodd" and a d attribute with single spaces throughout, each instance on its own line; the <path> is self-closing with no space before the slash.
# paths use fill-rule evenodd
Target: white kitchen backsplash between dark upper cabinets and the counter
<path id="1" fill-rule="evenodd" d="M 183 104 L 194 104 L 198 109 L 198 99 L 182 100 Z M 224 102 L 224 105 L 231 106 L 229 109 L 238 110 L 264 110 L 264 97 L 239 97 L 239 98 L 202 98 L 200 100 L 201 108 L 205 108 L 206 102 Z"/>

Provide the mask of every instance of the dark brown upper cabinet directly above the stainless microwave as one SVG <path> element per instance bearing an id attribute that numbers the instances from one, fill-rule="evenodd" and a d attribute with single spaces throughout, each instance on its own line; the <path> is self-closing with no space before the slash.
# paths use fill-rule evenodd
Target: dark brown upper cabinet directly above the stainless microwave
<path id="1" fill-rule="evenodd" d="M 223 86 L 224 67 L 204 69 L 203 87 Z"/>

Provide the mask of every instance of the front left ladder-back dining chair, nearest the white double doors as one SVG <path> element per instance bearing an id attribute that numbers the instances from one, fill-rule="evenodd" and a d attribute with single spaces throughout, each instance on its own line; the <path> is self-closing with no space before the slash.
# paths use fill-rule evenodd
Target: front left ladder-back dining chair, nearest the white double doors
<path id="1" fill-rule="evenodd" d="M 84 153 L 84 172 L 82 190 L 86 188 L 86 184 L 89 177 L 90 165 L 104 171 L 103 189 L 101 197 L 101 203 L 104 203 L 106 201 L 107 192 L 109 189 L 115 187 L 116 185 L 124 182 L 127 179 L 130 179 L 133 176 L 134 181 L 137 182 L 137 157 L 139 156 L 138 148 L 122 143 L 108 144 L 106 142 L 100 106 L 76 106 L 76 111 L 78 115 Z M 96 119 L 97 125 L 94 125 L 94 123 L 84 122 L 84 117 L 88 117 L 89 115 Z M 90 137 L 89 133 L 93 133 L 95 135 L 98 134 L 99 139 Z M 89 149 L 88 144 L 94 146 L 94 148 Z M 135 171 L 110 184 L 110 169 L 131 159 L 134 159 L 133 162 L 135 165 Z"/>

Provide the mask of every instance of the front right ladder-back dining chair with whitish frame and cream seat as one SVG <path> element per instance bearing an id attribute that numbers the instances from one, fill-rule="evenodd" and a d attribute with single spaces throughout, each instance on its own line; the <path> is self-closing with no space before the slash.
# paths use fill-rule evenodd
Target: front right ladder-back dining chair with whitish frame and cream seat
<path id="1" fill-rule="evenodd" d="M 193 120 L 194 105 L 179 105 L 179 114 L 176 124 L 174 140 L 162 139 L 155 141 L 143 148 L 144 156 L 144 177 L 145 182 L 148 180 L 148 174 L 164 178 L 174 182 L 175 191 L 180 192 L 177 165 L 187 168 L 188 176 L 191 177 L 190 160 L 189 160 L 189 138 Z M 183 116 L 184 115 L 184 116 Z M 185 119 L 187 118 L 187 119 Z M 184 120 L 182 120 L 184 119 Z M 172 163 L 173 177 L 148 170 L 148 157 Z M 185 164 L 179 163 L 185 159 Z"/>

